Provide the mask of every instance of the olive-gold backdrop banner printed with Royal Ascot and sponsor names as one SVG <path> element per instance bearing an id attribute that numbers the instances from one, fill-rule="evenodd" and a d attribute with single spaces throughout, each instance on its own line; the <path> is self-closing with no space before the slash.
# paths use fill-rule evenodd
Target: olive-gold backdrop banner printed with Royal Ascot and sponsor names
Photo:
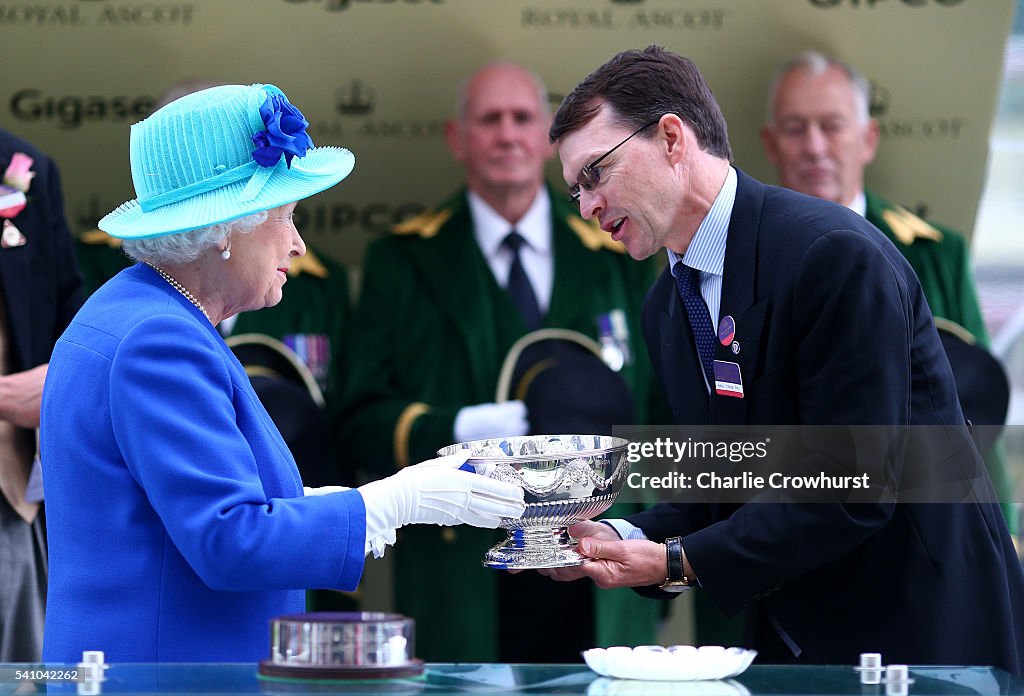
<path id="1" fill-rule="evenodd" d="M 76 232 L 133 198 L 128 126 L 181 80 L 268 82 L 354 173 L 303 204 L 307 242 L 351 266 L 373 236 L 445 198 L 460 84 L 512 59 L 557 103 L 615 52 L 693 58 L 729 122 L 735 163 L 774 171 L 758 137 L 773 72 L 806 48 L 871 81 L 882 145 L 868 184 L 970 235 L 1013 0 L 0 0 L 3 126 L 63 174 Z M 550 176 L 560 181 L 552 162 Z"/>

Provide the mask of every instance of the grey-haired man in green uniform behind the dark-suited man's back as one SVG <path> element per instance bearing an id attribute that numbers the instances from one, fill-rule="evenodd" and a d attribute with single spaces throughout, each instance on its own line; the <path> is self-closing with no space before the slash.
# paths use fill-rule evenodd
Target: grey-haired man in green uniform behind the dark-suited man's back
<path id="1" fill-rule="evenodd" d="M 816 51 L 786 63 L 769 90 L 761 138 L 783 186 L 838 203 L 865 216 L 906 257 L 936 318 L 963 327 L 987 347 L 967 244 L 864 187 L 879 125 L 868 114 L 870 86 L 851 67 Z M 970 418 L 970 414 L 968 414 Z M 984 452 L 1010 531 L 1017 523 L 1001 444 Z"/>

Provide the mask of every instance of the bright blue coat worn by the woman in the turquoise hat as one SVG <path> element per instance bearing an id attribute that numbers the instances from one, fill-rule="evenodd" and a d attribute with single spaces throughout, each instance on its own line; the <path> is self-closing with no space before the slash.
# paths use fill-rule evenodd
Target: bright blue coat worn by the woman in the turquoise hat
<path id="1" fill-rule="evenodd" d="M 212 324 L 153 269 L 119 273 L 57 342 L 43 392 L 43 658 L 255 661 L 303 590 L 352 590 L 356 491 L 303 497 Z"/>

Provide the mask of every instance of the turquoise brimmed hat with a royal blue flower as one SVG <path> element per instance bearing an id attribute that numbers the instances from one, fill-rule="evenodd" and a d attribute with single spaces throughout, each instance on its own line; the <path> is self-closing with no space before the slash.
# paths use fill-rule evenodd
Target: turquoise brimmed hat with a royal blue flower
<path id="1" fill-rule="evenodd" d="M 99 221 L 122 240 L 227 222 L 330 188 L 352 171 L 343 147 L 313 147 L 309 123 L 273 85 L 222 85 L 131 127 L 135 200 Z"/>

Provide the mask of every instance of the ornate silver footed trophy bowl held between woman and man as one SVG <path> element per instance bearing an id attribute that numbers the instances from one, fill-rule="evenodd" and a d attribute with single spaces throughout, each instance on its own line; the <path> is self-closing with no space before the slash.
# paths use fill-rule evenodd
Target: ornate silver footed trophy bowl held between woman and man
<path id="1" fill-rule="evenodd" d="M 588 562 L 567 531 L 611 507 L 630 472 L 629 440 L 609 435 L 529 435 L 449 445 L 464 449 L 477 473 L 523 489 L 526 512 L 504 518 L 508 536 L 483 557 L 488 568 L 565 568 Z"/>

